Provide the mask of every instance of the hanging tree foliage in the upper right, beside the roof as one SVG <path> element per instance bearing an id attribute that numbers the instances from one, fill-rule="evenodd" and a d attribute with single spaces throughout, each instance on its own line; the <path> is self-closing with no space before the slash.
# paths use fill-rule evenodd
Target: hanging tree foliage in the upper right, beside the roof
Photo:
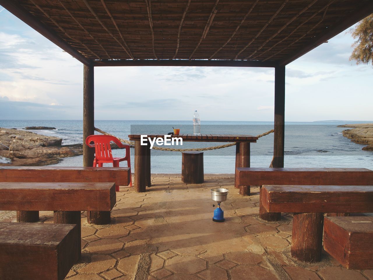
<path id="1" fill-rule="evenodd" d="M 373 66 L 373 14 L 360 21 L 351 33 L 357 40 L 352 44 L 350 60 L 355 60 L 356 64 L 370 62 Z"/>

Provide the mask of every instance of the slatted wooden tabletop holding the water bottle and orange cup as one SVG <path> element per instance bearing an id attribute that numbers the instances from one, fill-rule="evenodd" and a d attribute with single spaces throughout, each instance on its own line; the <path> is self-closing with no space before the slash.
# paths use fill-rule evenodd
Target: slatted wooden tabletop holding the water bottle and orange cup
<path id="1" fill-rule="evenodd" d="M 164 139 L 164 134 L 148 134 L 147 137 L 151 138 L 162 138 Z M 258 137 L 252 135 L 242 135 L 242 134 L 179 134 L 171 135 L 171 138 L 180 137 L 183 141 L 194 141 L 194 142 L 251 142 L 256 143 Z M 139 141 L 141 140 L 141 134 L 130 134 L 128 135 L 129 140 Z"/>

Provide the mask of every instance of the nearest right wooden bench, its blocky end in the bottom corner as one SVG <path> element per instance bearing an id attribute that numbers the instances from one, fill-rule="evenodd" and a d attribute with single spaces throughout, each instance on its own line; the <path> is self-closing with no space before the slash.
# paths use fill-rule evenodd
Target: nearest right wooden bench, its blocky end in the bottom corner
<path id="1" fill-rule="evenodd" d="M 373 269 L 373 217 L 325 217 L 324 249 L 347 269 Z"/>

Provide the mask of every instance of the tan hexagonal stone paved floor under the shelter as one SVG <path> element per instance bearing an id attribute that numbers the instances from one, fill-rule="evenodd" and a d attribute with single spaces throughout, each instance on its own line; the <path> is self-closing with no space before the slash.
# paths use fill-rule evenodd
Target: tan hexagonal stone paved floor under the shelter
<path id="1" fill-rule="evenodd" d="M 259 189 L 242 197 L 232 175 L 205 175 L 184 184 L 179 175 L 153 175 L 151 188 L 120 188 L 112 224 L 87 224 L 82 213 L 82 261 L 69 280 L 373 280 L 373 270 L 346 270 L 324 253 L 304 264 L 290 256 L 292 217 L 258 220 Z M 210 189 L 229 189 L 225 223 L 214 223 Z M 41 211 L 44 223 L 53 212 Z M 15 220 L 15 212 L 0 220 Z"/>

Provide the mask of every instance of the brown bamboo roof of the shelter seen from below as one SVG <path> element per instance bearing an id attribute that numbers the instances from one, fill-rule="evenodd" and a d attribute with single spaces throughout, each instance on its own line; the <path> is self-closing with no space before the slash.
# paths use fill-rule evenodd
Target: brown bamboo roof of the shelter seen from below
<path id="1" fill-rule="evenodd" d="M 372 0 L 0 0 L 0 5 L 95 66 L 286 65 L 373 12 Z"/>

